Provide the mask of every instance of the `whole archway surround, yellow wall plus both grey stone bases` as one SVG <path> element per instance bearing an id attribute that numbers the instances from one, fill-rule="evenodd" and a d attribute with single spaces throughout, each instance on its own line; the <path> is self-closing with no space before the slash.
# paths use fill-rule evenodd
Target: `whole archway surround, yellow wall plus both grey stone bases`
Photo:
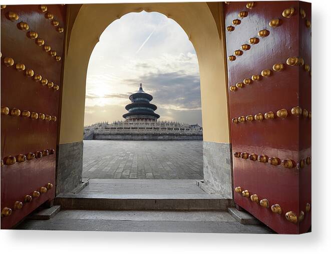
<path id="1" fill-rule="evenodd" d="M 204 180 L 232 198 L 231 153 L 224 63 L 222 3 L 70 5 L 67 10 L 57 193 L 81 181 L 86 73 L 107 26 L 131 12 L 158 12 L 175 20 L 192 42 L 199 62 L 204 139 Z"/>

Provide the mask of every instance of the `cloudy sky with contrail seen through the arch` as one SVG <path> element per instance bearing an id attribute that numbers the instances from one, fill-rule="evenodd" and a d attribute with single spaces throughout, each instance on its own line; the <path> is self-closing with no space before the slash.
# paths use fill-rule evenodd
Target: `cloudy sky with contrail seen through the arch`
<path id="1" fill-rule="evenodd" d="M 87 71 L 84 125 L 124 120 L 140 83 L 159 120 L 202 126 L 195 50 L 184 30 L 159 13 L 127 14 L 102 33 Z"/>

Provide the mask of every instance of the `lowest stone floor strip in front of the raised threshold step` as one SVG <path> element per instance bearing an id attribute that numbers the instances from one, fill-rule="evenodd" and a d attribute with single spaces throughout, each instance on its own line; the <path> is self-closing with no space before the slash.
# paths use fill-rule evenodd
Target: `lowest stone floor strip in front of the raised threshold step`
<path id="1" fill-rule="evenodd" d="M 240 224 L 226 211 L 61 210 L 50 220 L 25 220 L 16 229 L 272 233 L 262 224 Z"/>

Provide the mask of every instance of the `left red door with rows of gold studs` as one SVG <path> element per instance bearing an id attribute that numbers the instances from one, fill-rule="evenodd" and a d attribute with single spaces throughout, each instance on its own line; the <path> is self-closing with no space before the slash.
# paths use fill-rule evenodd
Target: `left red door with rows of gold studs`
<path id="1" fill-rule="evenodd" d="M 1 6 L 1 228 L 55 197 L 66 7 Z"/>

